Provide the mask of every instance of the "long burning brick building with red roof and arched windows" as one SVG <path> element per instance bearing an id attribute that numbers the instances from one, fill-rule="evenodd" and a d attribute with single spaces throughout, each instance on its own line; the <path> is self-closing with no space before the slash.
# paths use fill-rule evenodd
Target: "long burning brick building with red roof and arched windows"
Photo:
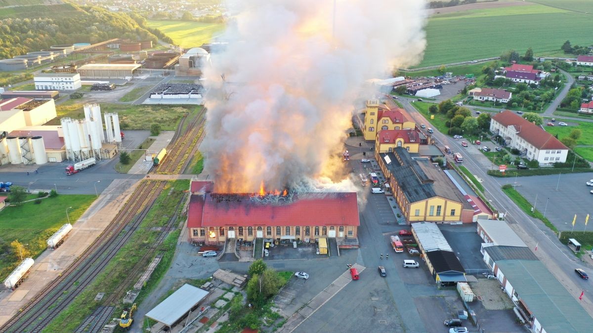
<path id="1" fill-rule="evenodd" d="M 193 181 L 189 240 L 208 245 L 227 238 L 355 239 L 360 225 L 356 193 L 213 193 L 212 181 Z M 340 242 L 338 242 L 340 244 Z"/>

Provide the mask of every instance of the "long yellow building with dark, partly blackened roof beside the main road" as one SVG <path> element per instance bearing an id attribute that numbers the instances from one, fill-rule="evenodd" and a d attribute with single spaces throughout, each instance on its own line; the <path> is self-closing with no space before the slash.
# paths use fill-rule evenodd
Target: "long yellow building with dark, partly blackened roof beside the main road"
<path id="1" fill-rule="evenodd" d="M 412 159 L 403 147 L 377 155 L 377 162 L 408 223 L 472 222 L 473 208 L 444 171 L 428 158 Z"/>

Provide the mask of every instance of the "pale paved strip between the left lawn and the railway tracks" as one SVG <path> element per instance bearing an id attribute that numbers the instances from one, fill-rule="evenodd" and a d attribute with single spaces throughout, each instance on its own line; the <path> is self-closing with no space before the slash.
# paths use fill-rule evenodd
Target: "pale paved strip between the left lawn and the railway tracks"
<path id="1" fill-rule="evenodd" d="M 7 322 L 19 309 L 42 292 L 84 252 L 122 209 L 127 197 L 138 184 L 138 180 L 111 182 L 111 185 L 74 223 L 74 229 L 62 246 L 55 250 L 48 249 L 37 257 L 29 277 L 16 290 L 0 292 L 0 325 Z"/>

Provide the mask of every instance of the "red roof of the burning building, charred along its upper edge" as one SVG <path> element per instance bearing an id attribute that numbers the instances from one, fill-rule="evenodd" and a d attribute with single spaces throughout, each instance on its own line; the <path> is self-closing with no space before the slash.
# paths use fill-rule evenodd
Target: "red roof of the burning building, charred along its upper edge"
<path id="1" fill-rule="evenodd" d="M 187 227 L 360 225 L 356 193 L 294 194 L 289 203 L 262 203 L 251 196 L 192 194 Z"/>

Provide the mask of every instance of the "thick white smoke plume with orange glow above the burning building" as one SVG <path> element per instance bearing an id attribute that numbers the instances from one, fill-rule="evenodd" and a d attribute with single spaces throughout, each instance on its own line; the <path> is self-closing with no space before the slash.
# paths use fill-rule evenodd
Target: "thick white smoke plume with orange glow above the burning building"
<path id="1" fill-rule="evenodd" d="M 426 43 L 424 1 L 337 0 L 334 8 L 330 0 L 250 0 L 228 8 L 228 47 L 206 71 L 206 171 L 218 192 L 330 177 L 364 81 L 419 62 Z"/>

